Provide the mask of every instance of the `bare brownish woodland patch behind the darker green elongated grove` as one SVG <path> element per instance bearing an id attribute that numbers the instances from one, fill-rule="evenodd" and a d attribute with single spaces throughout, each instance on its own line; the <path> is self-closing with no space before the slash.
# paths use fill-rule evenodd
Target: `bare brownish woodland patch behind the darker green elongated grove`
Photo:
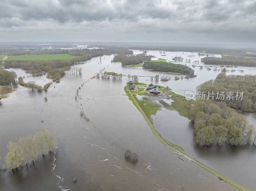
<path id="1" fill-rule="evenodd" d="M 137 54 L 137 55 L 115 55 L 113 62 L 121 62 L 122 65 L 140 64 L 145 61 L 151 60 L 150 55 Z"/>

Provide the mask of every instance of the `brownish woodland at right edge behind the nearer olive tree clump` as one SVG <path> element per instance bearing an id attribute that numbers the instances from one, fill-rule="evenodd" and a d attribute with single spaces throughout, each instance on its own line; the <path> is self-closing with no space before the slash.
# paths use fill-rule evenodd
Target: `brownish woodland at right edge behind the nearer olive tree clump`
<path id="1" fill-rule="evenodd" d="M 223 101 L 229 107 L 256 112 L 256 75 L 226 75 L 221 72 L 215 80 L 209 80 L 196 87 L 197 92 L 213 93 L 213 100 Z M 220 99 L 217 92 L 244 92 L 243 99 Z M 234 95 L 235 97 L 235 95 Z M 211 98 L 212 99 L 212 98 Z"/>

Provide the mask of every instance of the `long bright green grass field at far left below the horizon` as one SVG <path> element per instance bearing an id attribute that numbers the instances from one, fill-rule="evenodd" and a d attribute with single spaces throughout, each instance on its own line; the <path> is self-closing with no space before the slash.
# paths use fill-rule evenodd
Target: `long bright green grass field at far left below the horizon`
<path id="1" fill-rule="evenodd" d="M 8 56 L 8 60 L 67 60 L 77 58 L 79 56 L 70 56 L 69 54 L 56 54 L 56 55 L 19 55 Z"/>

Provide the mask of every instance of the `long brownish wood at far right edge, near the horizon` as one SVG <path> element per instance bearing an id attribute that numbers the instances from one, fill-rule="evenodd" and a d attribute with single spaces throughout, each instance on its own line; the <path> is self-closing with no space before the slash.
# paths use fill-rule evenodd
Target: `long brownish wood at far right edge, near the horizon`
<path id="1" fill-rule="evenodd" d="M 244 58 L 240 56 L 222 56 L 221 58 L 217 57 L 204 57 L 201 58 L 201 61 L 205 64 L 216 64 L 216 65 L 239 65 L 239 66 L 256 66 L 256 61 Z"/>

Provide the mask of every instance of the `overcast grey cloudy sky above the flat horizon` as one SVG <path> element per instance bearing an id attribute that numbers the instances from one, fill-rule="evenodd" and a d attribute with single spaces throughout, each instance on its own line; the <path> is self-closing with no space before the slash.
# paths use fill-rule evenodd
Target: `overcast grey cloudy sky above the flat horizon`
<path id="1" fill-rule="evenodd" d="M 256 1 L 0 0 L 0 41 L 256 44 Z"/>

